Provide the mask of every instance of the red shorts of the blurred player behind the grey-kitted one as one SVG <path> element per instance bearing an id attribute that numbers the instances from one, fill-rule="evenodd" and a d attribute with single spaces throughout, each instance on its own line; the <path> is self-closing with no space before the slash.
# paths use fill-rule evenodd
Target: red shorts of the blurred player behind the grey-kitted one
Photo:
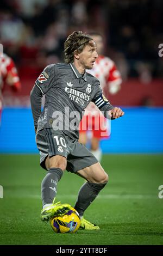
<path id="1" fill-rule="evenodd" d="M 86 114 L 79 124 L 79 132 L 91 131 L 95 138 L 108 138 L 109 129 L 107 119 L 102 114 Z"/>

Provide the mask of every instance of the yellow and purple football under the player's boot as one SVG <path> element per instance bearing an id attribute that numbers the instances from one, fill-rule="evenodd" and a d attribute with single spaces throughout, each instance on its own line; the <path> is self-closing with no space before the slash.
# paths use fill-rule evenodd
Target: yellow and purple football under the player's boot
<path id="1" fill-rule="evenodd" d="M 71 207 L 67 214 L 51 218 L 50 223 L 55 233 L 75 233 L 80 227 L 80 217 Z"/>

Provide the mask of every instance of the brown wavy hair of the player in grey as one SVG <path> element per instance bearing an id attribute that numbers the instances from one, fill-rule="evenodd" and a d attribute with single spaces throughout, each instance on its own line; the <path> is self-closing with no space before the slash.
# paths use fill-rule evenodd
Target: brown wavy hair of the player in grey
<path id="1" fill-rule="evenodd" d="M 74 31 L 71 35 L 68 35 L 64 44 L 65 63 L 73 62 L 74 51 L 82 52 L 90 40 L 92 40 L 91 36 L 82 31 Z"/>

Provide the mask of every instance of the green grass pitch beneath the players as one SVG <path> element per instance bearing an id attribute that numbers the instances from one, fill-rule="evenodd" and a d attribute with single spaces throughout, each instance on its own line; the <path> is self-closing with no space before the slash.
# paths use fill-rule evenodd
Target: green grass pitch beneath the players
<path id="1" fill-rule="evenodd" d="M 163 245 L 163 155 L 104 155 L 109 183 L 85 212 L 100 230 L 55 234 L 40 221 L 40 184 L 45 171 L 39 155 L 0 155 L 1 245 Z M 76 201 L 83 179 L 67 173 L 57 200 Z"/>

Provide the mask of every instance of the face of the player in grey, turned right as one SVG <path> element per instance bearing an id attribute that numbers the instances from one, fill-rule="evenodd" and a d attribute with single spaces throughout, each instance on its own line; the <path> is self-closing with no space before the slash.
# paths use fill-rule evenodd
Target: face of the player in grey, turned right
<path id="1" fill-rule="evenodd" d="M 79 63 L 84 69 L 92 69 L 95 60 L 98 58 L 96 52 L 96 44 L 94 41 L 89 41 L 90 44 L 86 45 L 81 53 L 79 53 Z"/>

